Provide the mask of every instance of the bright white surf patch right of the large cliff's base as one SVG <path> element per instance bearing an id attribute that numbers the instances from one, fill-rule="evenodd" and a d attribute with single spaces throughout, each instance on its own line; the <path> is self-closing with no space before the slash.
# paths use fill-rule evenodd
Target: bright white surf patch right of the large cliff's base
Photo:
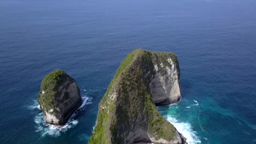
<path id="1" fill-rule="evenodd" d="M 174 127 L 181 133 L 187 140 L 188 144 L 201 143 L 201 140 L 196 135 L 196 131 L 192 129 L 190 123 L 178 122 L 176 118 L 167 115 L 167 121 L 172 123 Z"/>

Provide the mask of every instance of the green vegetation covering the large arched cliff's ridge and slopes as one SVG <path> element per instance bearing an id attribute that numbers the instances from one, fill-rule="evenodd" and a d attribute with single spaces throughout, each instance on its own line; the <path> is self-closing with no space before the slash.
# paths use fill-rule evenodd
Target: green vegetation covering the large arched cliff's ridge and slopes
<path id="1" fill-rule="evenodd" d="M 155 140 L 174 139 L 176 129 L 158 112 L 150 95 L 149 80 L 154 65 L 171 66 L 167 59 L 178 64 L 173 53 L 132 51 L 121 63 L 98 105 L 97 123 L 89 143 L 129 143 L 126 139 L 138 130 Z"/>

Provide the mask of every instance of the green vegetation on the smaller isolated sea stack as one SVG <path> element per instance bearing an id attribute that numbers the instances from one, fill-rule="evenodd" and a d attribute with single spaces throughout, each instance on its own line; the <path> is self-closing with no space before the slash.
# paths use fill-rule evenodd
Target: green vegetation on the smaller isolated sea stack
<path id="1" fill-rule="evenodd" d="M 39 104 L 43 104 L 45 110 L 49 111 L 50 109 L 53 109 L 55 96 L 57 94 L 56 88 L 61 82 L 62 78 L 66 76 L 67 74 L 65 71 L 54 70 L 44 77 L 38 97 Z"/>

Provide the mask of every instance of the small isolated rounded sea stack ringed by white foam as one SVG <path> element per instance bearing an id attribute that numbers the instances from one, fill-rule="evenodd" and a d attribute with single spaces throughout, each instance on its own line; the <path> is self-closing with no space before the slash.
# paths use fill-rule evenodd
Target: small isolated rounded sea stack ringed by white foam
<path id="1" fill-rule="evenodd" d="M 53 125 L 64 125 L 82 105 L 77 83 L 63 70 L 54 70 L 44 77 L 38 98 L 45 122 Z"/>

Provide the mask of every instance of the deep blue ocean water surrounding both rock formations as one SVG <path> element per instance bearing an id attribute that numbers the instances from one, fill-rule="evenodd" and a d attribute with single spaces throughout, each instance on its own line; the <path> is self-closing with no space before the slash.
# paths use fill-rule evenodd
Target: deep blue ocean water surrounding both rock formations
<path id="1" fill-rule="evenodd" d="M 256 143 L 256 1 L 1 0 L 1 143 L 87 143 L 127 53 L 174 52 L 182 101 L 158 107 L 189 143 Z M 73 76 L 84 106 L 44 124 L 40 82 Z"/>

